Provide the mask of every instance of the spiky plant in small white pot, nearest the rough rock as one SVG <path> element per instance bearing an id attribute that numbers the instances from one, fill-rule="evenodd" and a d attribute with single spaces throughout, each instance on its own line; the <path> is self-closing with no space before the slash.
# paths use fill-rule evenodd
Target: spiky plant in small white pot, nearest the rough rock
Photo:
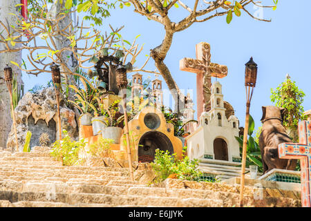
<path id="1" fill-rule="evenodd" d="M 79 122 L 81 125 L 91 126 L 91 119 L 93 117 L 92 113 L 97 112 L 97 108 L 95 107 L 96 98 L 95 93 L 96 89 L 91 84 L 86 84 L 83 78 L 80 78 L 82 84 L 84 85 L 84 89 L 77 88 L 74 85 L 70 85 L 69 87 L 75 90 L 75 101 L 69 100 L 71 104 L 73 104 L 79 111 L 82 113 L 79 117 Z"/>

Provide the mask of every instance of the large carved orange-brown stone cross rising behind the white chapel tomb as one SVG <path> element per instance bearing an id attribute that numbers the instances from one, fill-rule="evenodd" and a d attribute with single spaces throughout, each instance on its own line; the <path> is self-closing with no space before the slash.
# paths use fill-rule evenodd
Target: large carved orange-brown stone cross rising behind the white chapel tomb
<path id="1" fill-rule="evenodd" d="M 196 97 L 198 119 L 204 111 L 211 109 L 211 76 L 227 76 L 227 66 L 211 63 L 211 46 L 206 42 L 196 45 L 196 59 L 184 58 L 179 63 L 180 70 L 196 73 Z"/>

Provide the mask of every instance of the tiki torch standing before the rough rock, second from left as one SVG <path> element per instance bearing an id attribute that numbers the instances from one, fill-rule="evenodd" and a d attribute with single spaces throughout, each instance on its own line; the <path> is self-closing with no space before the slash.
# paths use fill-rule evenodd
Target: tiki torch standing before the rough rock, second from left
<path id="1" fill-rule="evenodd" d="M 56 102 L 57 102 L 57 117 L 58 117 L 58 130 L 59 130 L 59 140 L 62 140 L 62 122 L 60 117 L 60 108 L 59 108 L 59 91 L 61 86 L 61 75 L 59 66 L 53 62 L 50 66 L 52 70 L 52 80 L 54 83 L 55 93 L 56 93 Z"/>

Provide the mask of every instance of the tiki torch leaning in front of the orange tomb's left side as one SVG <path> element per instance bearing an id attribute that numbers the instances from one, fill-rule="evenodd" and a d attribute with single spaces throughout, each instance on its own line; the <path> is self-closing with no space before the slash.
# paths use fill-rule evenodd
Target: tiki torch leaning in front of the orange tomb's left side
<path id="1" fill-rule="evenodd" d="M 124 133 L 126 136 L 126 146 L 127 146 L 127 157 L 129 158 L 129 172 L 131 175 L 131 180 L 134 181 L 133 168 L 132 168 L 132 159 L 131 159 L 131 146 L 129 139 L 129 125 L 127 124 L 127 111 L 126 111 L 126 93 L 124 93 L 124 89 L 127 86 L 127 77 L 126 77 L 126 67 L 121 64 L 117 66 L 115 70 L 117 73 L 117 86 L 121 92 L 122 101 L 123 101 L 123 111 L 124 111 Z"/>

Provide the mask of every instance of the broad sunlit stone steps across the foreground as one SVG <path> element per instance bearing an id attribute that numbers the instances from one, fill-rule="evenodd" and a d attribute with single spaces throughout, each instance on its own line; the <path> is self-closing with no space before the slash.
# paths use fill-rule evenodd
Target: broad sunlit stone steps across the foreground
<path id="1" fill-rule="evenodd" d="M 126 168 L 62 166 L 49 149 L 0 151 L 0 207 L 234 206 L 238 186 L 167 179 L 153 186 L 130 181 Z M 247 206 L 299 206 L 294 197 L 254 200 Z M 283 194 L 284 195 L 284 194 Z"/>

